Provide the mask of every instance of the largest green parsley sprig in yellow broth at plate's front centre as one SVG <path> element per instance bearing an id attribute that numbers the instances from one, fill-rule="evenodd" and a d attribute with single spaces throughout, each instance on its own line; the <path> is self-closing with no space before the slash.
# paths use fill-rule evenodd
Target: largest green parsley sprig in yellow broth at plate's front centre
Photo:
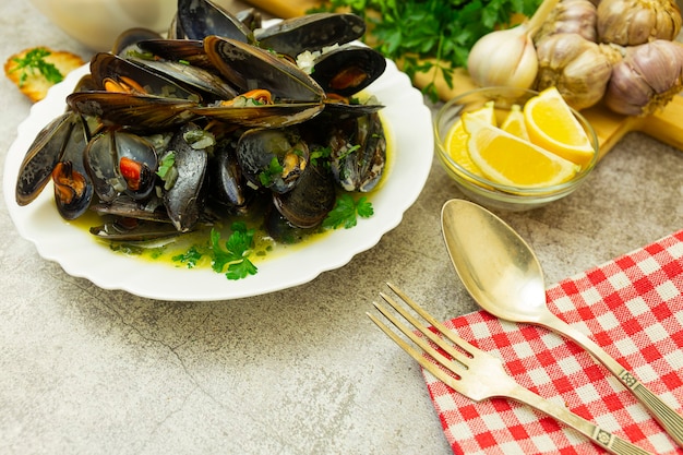
<path id="1" fill-rule="evenodd" d="M 211 230 L 212 268 L 214 272 L 223 273 L 227 265 L 226 277 L 228 279 L 240 279 L 248 275 L 255 275 L 256 266 L 249 260 L 249 254 L 253 248 L 255 229 L 248 229 L 241 221 L 230 226 L 232 234 L 220 244 L 220 232 Z"/>

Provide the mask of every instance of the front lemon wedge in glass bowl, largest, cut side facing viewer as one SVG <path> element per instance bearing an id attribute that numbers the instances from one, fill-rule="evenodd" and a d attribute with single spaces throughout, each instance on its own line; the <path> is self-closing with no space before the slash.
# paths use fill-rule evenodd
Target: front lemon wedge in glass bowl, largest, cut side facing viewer
<path id="1" fill-rule="evenodd" d="M 565 182 L 580 166 L 495 125 L 469 116 L 467 149 L 483 175 L 498 183 L 531 189 Z"/>

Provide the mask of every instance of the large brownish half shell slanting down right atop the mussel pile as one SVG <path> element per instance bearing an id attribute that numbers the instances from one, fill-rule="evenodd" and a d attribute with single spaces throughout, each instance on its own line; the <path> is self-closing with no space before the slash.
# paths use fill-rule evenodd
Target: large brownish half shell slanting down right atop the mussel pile
<path id="1" fill-rule="evenodd" d="M 325 97 L 305 72 L 267 50 L 219 36 L 207 36 L 204 50 L 240 93 L 263 88 L 281 103 L 317 103 Z"/>

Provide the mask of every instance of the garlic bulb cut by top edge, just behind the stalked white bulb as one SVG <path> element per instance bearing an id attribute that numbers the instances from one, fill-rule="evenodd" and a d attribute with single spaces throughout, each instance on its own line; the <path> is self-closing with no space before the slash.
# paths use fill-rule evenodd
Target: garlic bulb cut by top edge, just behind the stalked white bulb
<path id="1" fill-rule="evenodd" d="M 598 41 L 598 9 L 590 0 L 562 0 L 534 37 L 538 43 L 556 33 L 576 33 L 589 41 Z"/>

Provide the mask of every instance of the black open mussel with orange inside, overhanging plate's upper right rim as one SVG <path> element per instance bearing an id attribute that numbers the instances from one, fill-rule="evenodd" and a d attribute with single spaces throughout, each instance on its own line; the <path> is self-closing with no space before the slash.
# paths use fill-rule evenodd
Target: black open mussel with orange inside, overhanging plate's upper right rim
<path id="1" fill-rule="evenodd" d="M 325 93 L 352 96 L 376 81 L 385 69 L 386 59 L 382 53 L 351 44 L 316 57 L 311 76 Z"/>

